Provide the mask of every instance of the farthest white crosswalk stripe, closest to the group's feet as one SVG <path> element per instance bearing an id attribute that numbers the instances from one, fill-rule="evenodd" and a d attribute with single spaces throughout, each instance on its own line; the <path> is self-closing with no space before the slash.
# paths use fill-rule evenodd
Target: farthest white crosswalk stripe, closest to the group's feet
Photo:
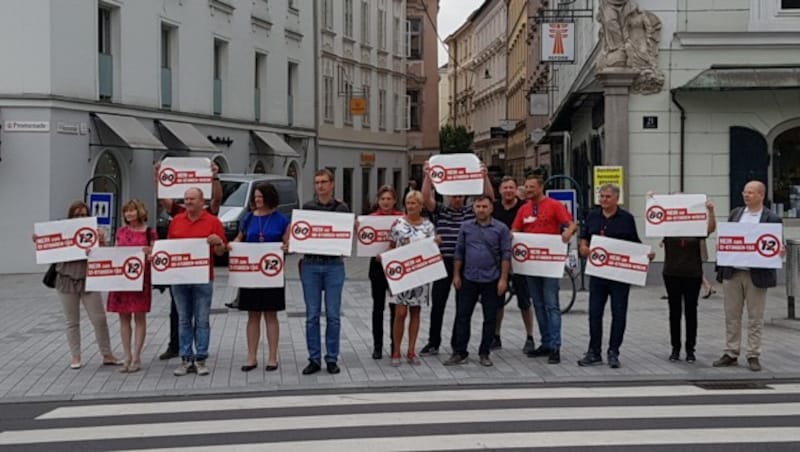
<path id="1" fill-rule="evenodd" d="M 194 413 L 198 411 L 221 412 L 267 408 L 300 408 L 311 406 L 358 406 L 380 403 L 397 404 L 453 401 L 472 402 L 520 399 L 597 399 L 619 397 L 691 397 L 718 394 L 724 394 L 726 396 L 748 394 L 800 394 L 800 384 L 776 384 L 771 385 L 771 388 L 771 390 L 741 389 L 715 392 L 695 386 L 634 386 L 321 394 L 60 407 L 44 413 L 36 419 L 45 420 L 161 413 Z"/>

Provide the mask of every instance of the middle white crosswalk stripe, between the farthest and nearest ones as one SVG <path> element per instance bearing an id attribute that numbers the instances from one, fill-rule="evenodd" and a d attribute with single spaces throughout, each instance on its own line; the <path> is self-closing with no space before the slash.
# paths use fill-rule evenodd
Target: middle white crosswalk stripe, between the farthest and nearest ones
<path id="1" fill-rule="evenodd" d="M 285 416 L 212 421 L 124 423 L 120 425 L 12 430 L 0 433 L 0 445 L 96 441 L 107 439 L 247 433 L 341 427 L 465 424 L 474 422 L 595 420 L 595 419 L 693 419 L 705 417 L 800 416 L 800 403 L 591 406 L 557 408 L 477 409 L 389 413 Z M 683 432 L 683 430 L 681 430 Z M 673 432 L 674 433 L 674 432 Z M 681 434 L 682 436 L 682 434 Z M 798 437 L 800 438 L 800 437 Z M 427 447 L 427 446 L 426 446 Z"/>

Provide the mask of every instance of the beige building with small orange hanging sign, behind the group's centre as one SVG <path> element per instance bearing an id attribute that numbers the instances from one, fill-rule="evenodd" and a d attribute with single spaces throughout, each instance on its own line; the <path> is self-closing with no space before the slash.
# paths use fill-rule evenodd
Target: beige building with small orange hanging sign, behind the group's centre
<path id="1" fill-rule="evenodd" d="M 408 172 L 406 2 L 316 3 L 320 108 L 319 153 L 313 165 L 333 171 L 336 196 L 362 212 L 374 203 L 381 185 L 402 193 Z M 361 100 L 365 108 L 351 105 Z"/>

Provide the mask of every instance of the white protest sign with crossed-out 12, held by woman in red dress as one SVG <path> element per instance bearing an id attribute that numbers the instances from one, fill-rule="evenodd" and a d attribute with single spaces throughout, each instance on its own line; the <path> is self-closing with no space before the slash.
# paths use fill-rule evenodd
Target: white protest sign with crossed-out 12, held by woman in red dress
<path id="1" fill-rule="evenodd" d="M 145 265 L 141 246 L 95 248 L 86 265 L 86 290 L 141 292 Z"/>

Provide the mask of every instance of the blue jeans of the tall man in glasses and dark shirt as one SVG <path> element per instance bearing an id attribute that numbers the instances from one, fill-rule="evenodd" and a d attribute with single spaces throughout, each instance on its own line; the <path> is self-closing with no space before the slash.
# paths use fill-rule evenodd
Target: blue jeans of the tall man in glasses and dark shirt
<path id="1" fill-rule="evenodd" d="M 306 302 L 306 346 L 309 361 L 320 364 L 319 317 L 322 292 L 325 292 L 325 362 L 339 359 L 339 333 L 344 287 L 344 262 L 341 259 L 324 261 L 303 260 L 300 281 Z"/>

